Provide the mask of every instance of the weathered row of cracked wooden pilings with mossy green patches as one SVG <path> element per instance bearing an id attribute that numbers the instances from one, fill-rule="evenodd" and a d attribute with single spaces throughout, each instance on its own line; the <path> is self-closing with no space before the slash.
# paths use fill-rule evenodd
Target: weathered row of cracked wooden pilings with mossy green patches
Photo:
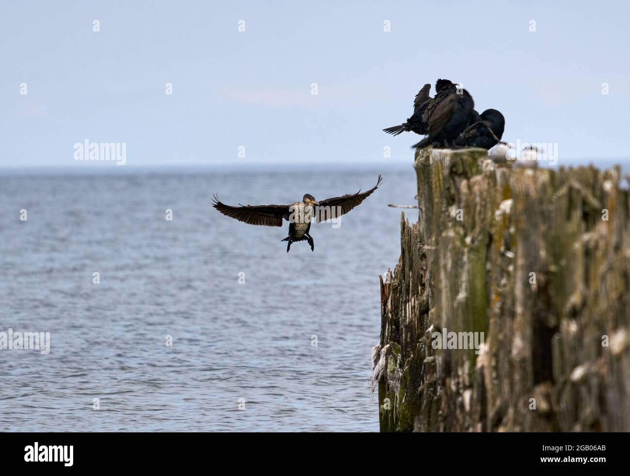
<path id="1" fill-rule="evenodd" d="M 381 431 L 630 431 L 630 230 L 620 170 L 416 153 L 418 223 L 381 279 Z M 484 334 L 434 349 L 432 333 Z M 481 334 L 478 334 L 481 335 Z"/>

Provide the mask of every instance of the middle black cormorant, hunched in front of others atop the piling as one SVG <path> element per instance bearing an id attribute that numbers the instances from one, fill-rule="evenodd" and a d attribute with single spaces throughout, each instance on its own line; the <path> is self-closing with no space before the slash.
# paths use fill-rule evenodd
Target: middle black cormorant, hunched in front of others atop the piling
<path id="1" fill-rule="evenodd" d="M 445 84 L 425 111 L 427 137 L 412 147 L 421 149 L 430 145 L 452 146 L 453 141 L 469 124 L 473 110 L 473 96 L 468 91 L 460 91 L 452 83 Z"/>

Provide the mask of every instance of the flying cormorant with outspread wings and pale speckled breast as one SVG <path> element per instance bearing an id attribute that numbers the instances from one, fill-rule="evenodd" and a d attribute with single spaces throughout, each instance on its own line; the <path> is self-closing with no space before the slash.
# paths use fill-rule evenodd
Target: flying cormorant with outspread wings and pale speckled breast
<path id="1" fill-rule="evenodd" d="M 314 251 L 314 241 L 309 234 L 311 221 L 317 219 L 319 223 L 347 214 L 372 195 L 372 192 L 381 185 L 381 182 L 382 178 L 379 175 L 376 185 L 372 189 L 367 190 L 367 192 L 361 193 L 361 190 L 359 190 L 356 194 L 319 200 L 319 202 L 312 195 L 305 194 L 301 202 L 295 202 L 290 205 L 239 205 L 238 207 L 232 207 L 221 203 L 219 197 L 214 195 L 212 206 L 226 216 L 252 225 L 282 226 L 282 220 L 285 219 L 289 221 L 289 236 L 281 241 L 289 241 L 287 243 L 287 253 L 289 253 L 291 243 L 304 240 L 308 241 L 309 245 L 311 245 L 311 250 Z"/>

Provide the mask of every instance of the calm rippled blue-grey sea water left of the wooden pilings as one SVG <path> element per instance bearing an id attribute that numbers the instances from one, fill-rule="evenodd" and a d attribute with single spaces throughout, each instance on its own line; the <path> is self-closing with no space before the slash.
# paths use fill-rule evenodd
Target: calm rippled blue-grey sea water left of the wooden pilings
<path id="1" fill-rule="evenodd" d="M 313 226 L 314 253 L 210 207 L 334 197 L 379 172 L 340 228 Z M 50 332 L 50 353 L 0 350 L 0 430 L 378 431 L 378 276 L 400 253 L 387 203 L 413 195 L 411 166 L 1 175 L 0 332 Z"/>

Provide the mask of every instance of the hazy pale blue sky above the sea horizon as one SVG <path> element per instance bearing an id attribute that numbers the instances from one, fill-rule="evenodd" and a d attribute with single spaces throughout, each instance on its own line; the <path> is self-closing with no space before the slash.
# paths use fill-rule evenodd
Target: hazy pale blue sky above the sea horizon
<path id="1" fill-rule="evenodd" d="M 0 168 L 115 167 L 74 161 L 84 139 L 125 142 L 131 166 L 410 163 L 420 136 L 381 129 L 437 78 L 501 110 L 506 141 L 621 161 L 629 16 L 626 1 L 3 1 Z"/>

